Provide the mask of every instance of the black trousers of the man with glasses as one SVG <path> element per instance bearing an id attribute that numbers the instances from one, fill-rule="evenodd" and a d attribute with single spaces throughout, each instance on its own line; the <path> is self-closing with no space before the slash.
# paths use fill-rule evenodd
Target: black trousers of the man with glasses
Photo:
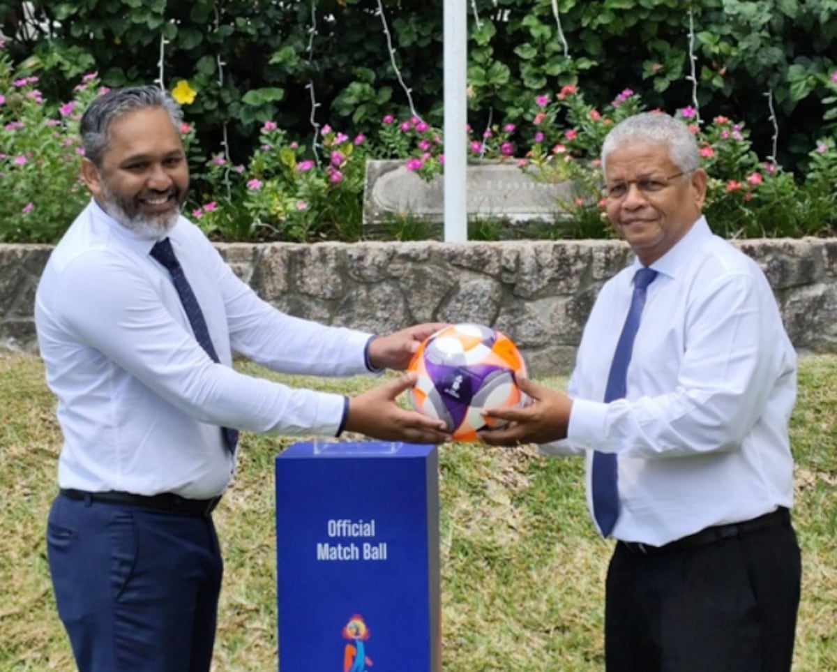
<path id="1" fill-rule="evenodd" d="M 607 672 L 789 672 L 800 581 L 789 520 L 686 550 L 619 543 L 608 568 Z"/>

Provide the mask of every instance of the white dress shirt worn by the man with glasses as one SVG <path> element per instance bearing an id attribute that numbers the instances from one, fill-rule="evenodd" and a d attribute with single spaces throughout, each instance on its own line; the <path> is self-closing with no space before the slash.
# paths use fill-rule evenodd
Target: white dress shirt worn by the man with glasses
<path id="1" fill-rule="evenodd" d="M 625 399 L 603 403 L 639 261 L 602 288 L 567 386 L 567 439 L 547 454 L 619 456 L 615 539 L 664 545 L 793 503 L 796 354 L 757 264 L 701 217 L 651 268 Z"/>

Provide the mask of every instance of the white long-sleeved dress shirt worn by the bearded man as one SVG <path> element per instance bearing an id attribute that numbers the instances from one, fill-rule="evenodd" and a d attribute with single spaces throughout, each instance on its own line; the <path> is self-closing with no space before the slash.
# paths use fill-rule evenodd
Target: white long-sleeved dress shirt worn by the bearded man
<path id="1" fill-rule="evenodd" d="M 219 426 L 334 435 L 341 395 L 291 389 L 231 368 L 233 353 L 291 374 L 368 373 L 370 334 L 280 313 L 184 218 L 169 233 L 220 363 L 195 339 L 155 240 L 95 201 L 55 247 L 35 323 L 64 433 L 59 487 L 205 499 L 223 492 L 234 458 Z"/>

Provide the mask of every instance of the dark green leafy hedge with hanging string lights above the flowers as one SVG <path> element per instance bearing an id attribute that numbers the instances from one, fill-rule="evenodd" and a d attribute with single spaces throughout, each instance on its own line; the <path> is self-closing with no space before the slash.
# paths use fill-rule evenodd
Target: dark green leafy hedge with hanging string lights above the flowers
<path id="1" fill-rule="evenodd" d="M 823 119 L 823 84 L 837 67 L 837 0 L 475 0 L 469 10 L 475 128 L 519 125 L 544 90 L 578 85 L 602 108 L 629 88 L 652 108 L 691 100 L 706 118 L 740 120 L 767 154 L 773 103 L 775 158 L 795 173 L 834 118 Z M 49 99 L 68 99 L 69 82 L 93 70 L 108 86 L 187 80 L 203 152 L 223 148 L 236 163 L 264 121 L 305 142 L 326 124 L 372 134 L 386 114 L 442 122 L 439 2 L 383 3 L 381 14 L 377 0 L 0 0 L 0 17 L 13 58 Z"/>

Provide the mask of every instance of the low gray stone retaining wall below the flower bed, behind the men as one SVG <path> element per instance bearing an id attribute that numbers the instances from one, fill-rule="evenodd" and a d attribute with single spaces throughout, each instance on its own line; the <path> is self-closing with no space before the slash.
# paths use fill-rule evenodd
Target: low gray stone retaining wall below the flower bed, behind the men
<path id="1" fill-rule="evenodd" d="M 743 240 L 793 344 L 837 353 L 837 239 Z M 567 373 L 602 283 L 630 251 L 613 240 L 234 243 L 218 249 L 261 297 L 323 323 L 388 332 L 426 321 L 507 333 L 532 371 Z M 37 348 L 33 297 L 49 246 L 0 245 L 0 348 Z"/>

